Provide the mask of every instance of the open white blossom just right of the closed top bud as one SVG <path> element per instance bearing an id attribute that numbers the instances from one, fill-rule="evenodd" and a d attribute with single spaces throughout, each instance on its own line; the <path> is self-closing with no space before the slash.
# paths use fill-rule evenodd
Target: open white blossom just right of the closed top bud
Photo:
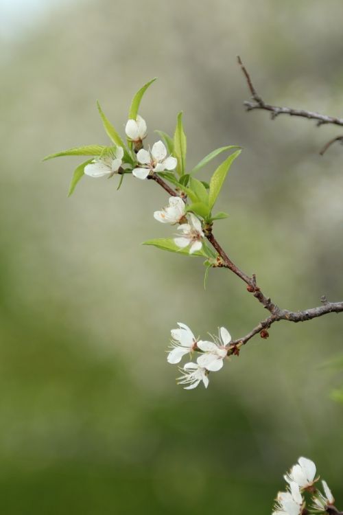
<path id="1" fill-rule="evenodd" d="M 137 153 L 139 167 L 132 170 L 132 174 L 138 179 L 146 179 L 150 173 L 174 170 L 178 164 L 176 157 L 167 157 L 167 148 L 163 142 L 156 141 L 152 149 L 147 151 L 141 148 Z"/>

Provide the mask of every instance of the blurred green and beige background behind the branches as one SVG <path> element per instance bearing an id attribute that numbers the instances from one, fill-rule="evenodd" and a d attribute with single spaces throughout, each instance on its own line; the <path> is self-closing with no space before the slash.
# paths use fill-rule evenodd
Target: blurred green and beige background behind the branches
<path id="1" fill-rule="evenodd" d="M 239 144 L 215 232 L 282 307 L 342 299 L 340 130 L 246 113 L 244 59 L 265 100 L 342 116 L 340 0 L 1 0 L 0 490 L 6 515 L 268 514 L 282 474 L 314 459 L 343 503 L 343 318 L 279 323 L 211 376 L 176 386 L 177 321 L 235 338 L 265 317 L 246 288 L 198 258 L 141 246 L 173 229 L 150 181 L 84 178 L 106 144 L 98 98 L 123 130 L 132 95 L 174 131 L 185 112 L 190 166 Z M 204 170 L 203 180 L 213 169 Z"/>

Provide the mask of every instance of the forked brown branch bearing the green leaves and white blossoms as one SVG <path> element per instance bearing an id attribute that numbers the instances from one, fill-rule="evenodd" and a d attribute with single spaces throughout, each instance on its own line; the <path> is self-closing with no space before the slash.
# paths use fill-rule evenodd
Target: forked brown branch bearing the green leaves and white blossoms
<path id="1" fill-rule="evenodd" d="M 157 174 L 153 174 L 152 176 L 148 176 L 148 179 L 153 179 L 158 185 L 163 187 L 169 195 L 177 196 L 177 193 L 161 179 Z M 257 286 L 256 275 L 252 274 L 250 277 L 243 271 L 241 271 L 238 266 L 230 260 L 224 249 L 217 242 L 215 237 L 213 236 L 212 227 L 206 226 L 204 228 L 204 234 L 207 240 L 211 243 L 215 251 L 218 253 L 218 261 L 215 266 L 217 268 L 223 267 L 228 268 L 235 275 L 237 275 L 242 281 L 244 281 L 248 286 L 248 292 L 252 293 L 254 297 L 262 304 L 263 308 L 267 309 L 270 312 L 270 317 L 261 321 L 255 328 L 253 328 L 246 336 L 242 336 L 241 338 L 231 341 L 230 347 L 228 350 L 228 354 L 233 354 L 241 345 L 245 345 L 252 336 L 255 334 L 261 334 L 262 338 L 268 338 L 267 329 L 270 328 L 272 323 L 278 322 L 280 320 L 286 320 L 288 322 L 305 322 L 307 320 L 315 319 L 318 317 L 322 317 L 324 314 L 328 313 L 340 313 L 343 312 L 343 302 L 329 302 L 326 297 L 322 297 L 320 300 L 322 301 L 322 306 L 318 306 L 317 308 L 310 308 L 303 311 L 289 311 L 280 309 L 279 306 L 274 304 L 270 297 L 266 297 L 262 292 L 261 288 Z M 236 352 L 237 353 L 237 352 Z"/>

